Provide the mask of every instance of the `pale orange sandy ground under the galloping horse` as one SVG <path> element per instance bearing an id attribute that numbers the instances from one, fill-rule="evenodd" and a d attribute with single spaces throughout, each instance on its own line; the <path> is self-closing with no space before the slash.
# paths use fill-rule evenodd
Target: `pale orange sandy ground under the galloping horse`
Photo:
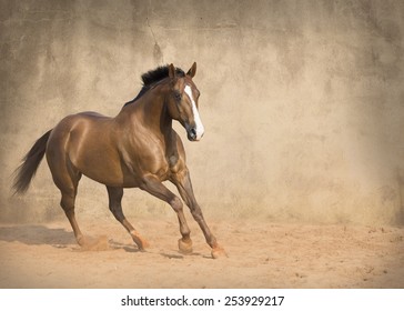
<path id="1" fill-rule="evenodd" d="M 174 220 L 137 220 L 147 252 L 113 219 L 80 221 L 101 237 L 91 251 L 75 244 L 67 220 L 3 223 L 0 288 L 404 288 L 403 228 L 213 222 L 229 253 L 213 260 L 189 222 L 190 255 L 176 250 Z"/>

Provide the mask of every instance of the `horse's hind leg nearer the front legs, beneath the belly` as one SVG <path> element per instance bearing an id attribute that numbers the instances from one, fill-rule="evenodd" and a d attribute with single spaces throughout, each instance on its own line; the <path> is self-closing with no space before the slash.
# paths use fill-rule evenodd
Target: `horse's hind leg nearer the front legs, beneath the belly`
<path id="1" fill-rule="evenodd" d="M 108 187 L 108 197 L 109 197 L 109 205 L 112 214 L 115 219 L 122 223 L 122 225 L 127 229 L 127 231 L 131 234 L 133 241 L 137 243 L 139 250 L 144 250 L 149 247 L 149 243 L 138 233 L 138 231 L 133 228 L 133 225 L 127 220 L 122 212 L 122 197 L 123 189 L 122 188 L 113 188 Z"/>

